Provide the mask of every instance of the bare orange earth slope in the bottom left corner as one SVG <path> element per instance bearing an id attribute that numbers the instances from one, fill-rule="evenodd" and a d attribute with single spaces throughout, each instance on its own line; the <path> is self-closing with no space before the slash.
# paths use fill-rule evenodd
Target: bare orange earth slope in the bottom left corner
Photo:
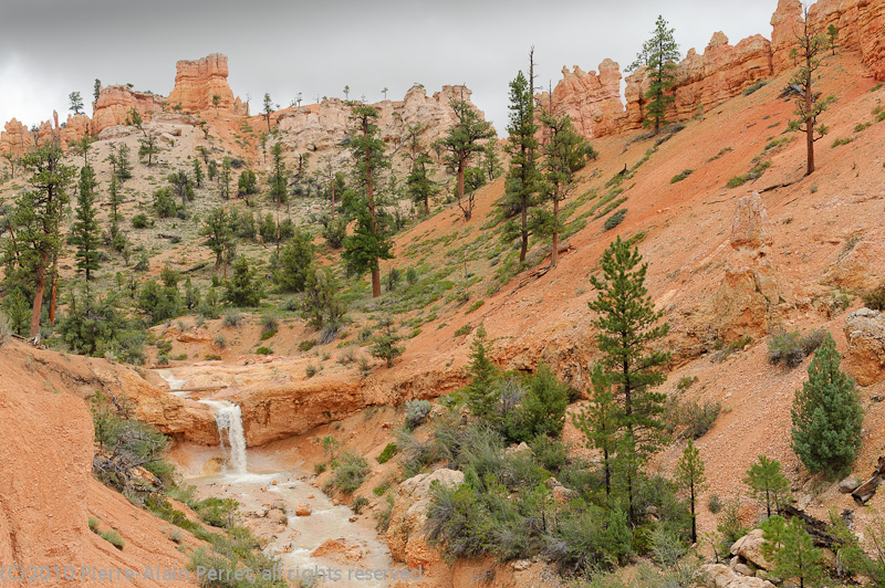
<path id="1" fill-rule="evenodd" d="M 73 574 L 76 586 L 108 586 L 98 570 L 132 569 L 113 586 L 185 587 L 196 582 L 145 578 L 145 568 L 185 569 L 187 556 L 167 535 L 169 524 L 131 504 L 92 476 L 93 426 L 80 393 L 100 386 L 95 370 L 121 376 L 103 360 L 64 356 L 8 343 L 0 354 L 0 559 Z M 110 386 L 114 378 L 107 378 Z M 126 382 L 132 390 L 132 382 Z M 168 396 L 168 395 L 167 395 Z M 179 506 L 180 507 L 180 506 Z M 117 549 L 93 533 L 116 531 Z M 188 534 L 185 534 L 190 537 Z M 195 542 L 192 537 L 188 539 Z M 84 573 L 83 568 L 94 569 Z M 18 570 L 13 573 L 18 576 Z M 45 578 L 44 578 L 45 580 Z M 71 586 L 51 571 L 45 586 Z"/>

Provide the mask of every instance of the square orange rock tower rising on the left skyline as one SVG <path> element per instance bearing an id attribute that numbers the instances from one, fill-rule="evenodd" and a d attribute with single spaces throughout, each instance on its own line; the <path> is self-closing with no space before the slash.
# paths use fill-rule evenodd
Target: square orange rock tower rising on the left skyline
<path id="1" fill-rule="evenodd" d="M 219 96 L 218 112 L 247 116 L 248 108 L 233 97 L 228 85 L 228 59 L 212 53 L 200 60 L 181 60 L 175 64 L 175 87 L 169 93 L 169 104 L 180 104 L 186 112 L 216 109 L 212 96 Z"/>

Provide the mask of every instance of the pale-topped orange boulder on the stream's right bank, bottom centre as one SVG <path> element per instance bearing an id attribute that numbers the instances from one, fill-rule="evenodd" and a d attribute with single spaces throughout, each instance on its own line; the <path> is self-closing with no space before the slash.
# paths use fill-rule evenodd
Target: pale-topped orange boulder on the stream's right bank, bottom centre
<path id="1" fill-rule="evenodd" d="M 464 472 L 442 469 L 409 477 L 399 484 L 394 497 L 386 534 L 387 547 L 393 558 L 405 561 L 409 569 L 442 561 L 436 548 L 428 544 L 426 529 L 430 484 L 434 482 L 454 489 L 464 483 Z"/>

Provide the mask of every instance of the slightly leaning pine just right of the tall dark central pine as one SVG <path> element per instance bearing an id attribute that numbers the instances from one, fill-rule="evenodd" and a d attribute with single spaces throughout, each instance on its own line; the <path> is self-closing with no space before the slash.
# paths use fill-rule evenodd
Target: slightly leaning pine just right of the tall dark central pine
<path id="1" fill-rule="evenodd" d="M 569 115 L 556 116 L 543 113 L 541 122 L 548 128 L 550 140 L 544 146 L 544 167 L 546 179 L 546 198 L 553 202 L 553 218 L 545 232 L 550 232 L 553 243 L 550 250 L 550 267 L 559 263 L 560 202 L 569 197 L 575 186 L 575 174 L 586 165 L 587 155 L 592 153 L 590 145 L 579 135 Z"/>

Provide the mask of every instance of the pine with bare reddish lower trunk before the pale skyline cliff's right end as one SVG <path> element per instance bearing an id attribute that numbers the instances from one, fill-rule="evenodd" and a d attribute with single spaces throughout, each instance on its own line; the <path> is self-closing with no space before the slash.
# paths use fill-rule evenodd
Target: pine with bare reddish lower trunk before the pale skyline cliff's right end
<path id="1" fill-rule="evenodd" d="M 494 129 L 491 123 L 483 120 L 476 108 L 469 102 L 464 99 L 451 98 L 449 107 L 455 114 L 456 122 L 449 127 L 446 137 L 442 138 L 440 145 L 446 149 L 449 155 L 446 157 L 446 162 L 451 166 L 456 171 L 458 178 L 458 206 L 464 213 L 466 221 L 470 220 L 473 213 L 473 207 L 465 208 L 464 189 L 465 189 L 465 171 L 470 162 L 470 159 L 482 153 L 483 146 L 480 141 L 486 141 L 494 137 Z"/>

